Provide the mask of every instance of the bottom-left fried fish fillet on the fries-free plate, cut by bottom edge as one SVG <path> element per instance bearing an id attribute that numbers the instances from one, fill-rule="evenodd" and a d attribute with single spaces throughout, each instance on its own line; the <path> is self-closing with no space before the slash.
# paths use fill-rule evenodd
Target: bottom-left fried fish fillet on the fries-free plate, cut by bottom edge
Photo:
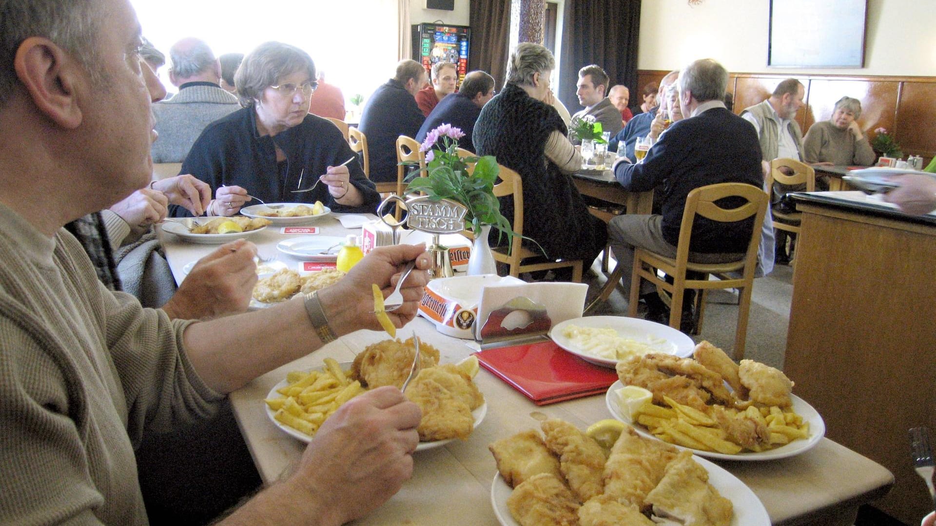
<path id="1" fill-rule="evenodd" d="M 507 508 L 520 526 L 578 526 L 578 501 L 556 475 L 524 481 L 507 498 Z"/>

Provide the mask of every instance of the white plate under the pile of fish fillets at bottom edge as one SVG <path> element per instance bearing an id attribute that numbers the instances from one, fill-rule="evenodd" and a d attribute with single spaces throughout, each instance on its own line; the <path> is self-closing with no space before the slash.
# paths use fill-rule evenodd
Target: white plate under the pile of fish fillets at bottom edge
<path id="1" fill-rule="evenodd" d="M 767 509 L 747 484 L 709 460 L 698 457 L 693 457 L 693 460 L 709 472 L 709 484 L 718 489 L 725 499 L 731 501 L 734 512 L 731 526 L 770 526 Z M 519 526 L 519 523 L 510 515 L 510 508 L 507 507 L 507 498 L 513 490 L 501 474 L 494 474 L 494 481 L 490 485 L 490 504 L 502 526 Z"/>

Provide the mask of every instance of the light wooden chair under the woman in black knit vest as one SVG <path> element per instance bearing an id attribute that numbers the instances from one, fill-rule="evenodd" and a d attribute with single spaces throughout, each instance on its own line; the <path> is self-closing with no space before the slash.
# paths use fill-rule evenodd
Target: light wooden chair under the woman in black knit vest
<path id="1" fill-rule="evenodd" d="M 498 178 L 501 180 L 500 183 L 494 185 L 494 196 L 496 197 L 505 197 L 513 196 L 514 197 L 514 231 L 518 234 L 523 234 L 523 182 L 520 180 L 520 175 L 516 171 L 505 167 L 504 165 L 498 165 L 500 167 L 500 174 Z M 494 254 L 494 260 L 505 263 L 510 267 L 510 275 L 515 278 L 519 276 L 520 272 L 533 272 L 535 270 L 550 270 L 550 269 L 563 269 L 565 267 L 572 268 L 572 281 L 574 283 L 581 283 L 582 281 L 582 261 L 577 259 L 575 261 L 563 260 L 563 261 L 549 261 L 546 263 L 534 263 L 530 265 L 523 265 L 523 259 L 533 256 L 539 256 L 538 253 L 535 253 L 532 250 L 524 248 L 522 246 L 522 238 L 519 236 L 514 236 L 510 241 L 510 244 L 503 247 L 491 248 L 491 252 Z"/>

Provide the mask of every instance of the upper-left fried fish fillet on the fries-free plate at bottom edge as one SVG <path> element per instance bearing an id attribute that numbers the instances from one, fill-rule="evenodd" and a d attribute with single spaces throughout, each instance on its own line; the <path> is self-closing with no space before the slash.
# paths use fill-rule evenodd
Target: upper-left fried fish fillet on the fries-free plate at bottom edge
<path id="1" fill-rule="evenodd" d="M 528 430 L 491 442 L 488 446 L 497 471 L 513 488 L 534 475 L 548 474 L 562 478 L 559 459 L 549 451 L 539 431 Z"/>

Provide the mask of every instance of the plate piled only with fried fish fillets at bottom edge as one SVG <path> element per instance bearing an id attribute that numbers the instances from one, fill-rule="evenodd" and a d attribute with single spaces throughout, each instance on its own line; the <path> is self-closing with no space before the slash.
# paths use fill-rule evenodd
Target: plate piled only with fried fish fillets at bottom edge
<path id="1" fill-rule="evenodd" d="M 604 444 L 563 420 L 490 444 L 490 489 L 504 526 L 713 524 L 767 526 L 767 510 L 738 477 L 689 451 L 622 425 Z M 589 431 L 591 432 L 591 430 Z"/>

